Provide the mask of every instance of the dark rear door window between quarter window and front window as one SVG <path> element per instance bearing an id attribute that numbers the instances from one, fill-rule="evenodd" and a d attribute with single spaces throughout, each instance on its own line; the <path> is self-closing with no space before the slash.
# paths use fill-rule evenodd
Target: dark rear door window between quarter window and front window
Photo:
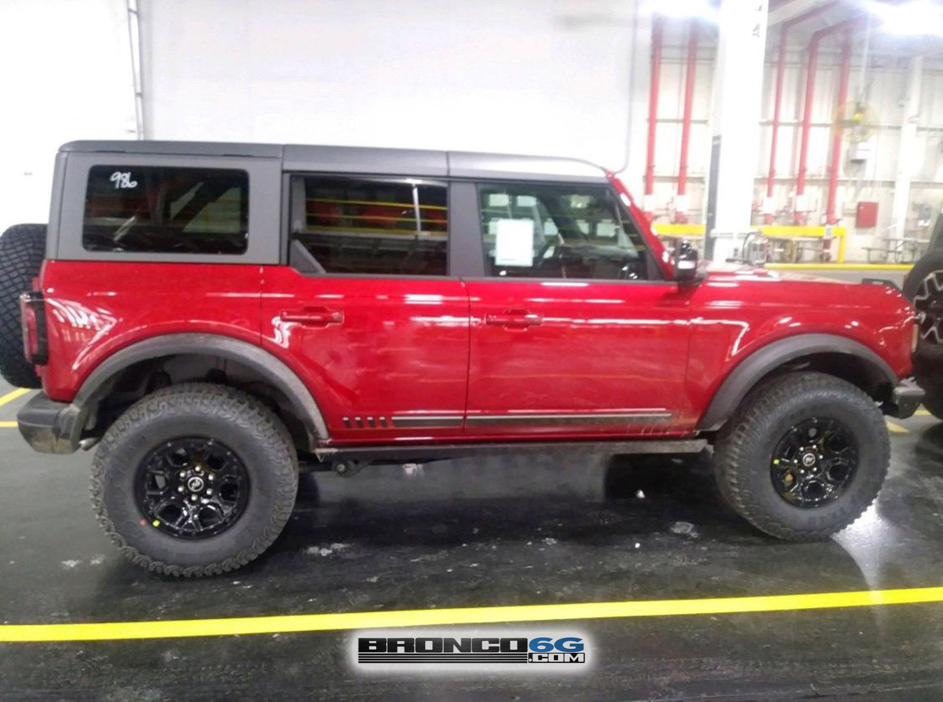
<path id="1" fill-rule="evenodd" d="M 445 275 L 446 188 L 403 181 L 304 178 L 293 236 L 328 273 Z M 293 189 L 299 193 L 300 188 Z"/>

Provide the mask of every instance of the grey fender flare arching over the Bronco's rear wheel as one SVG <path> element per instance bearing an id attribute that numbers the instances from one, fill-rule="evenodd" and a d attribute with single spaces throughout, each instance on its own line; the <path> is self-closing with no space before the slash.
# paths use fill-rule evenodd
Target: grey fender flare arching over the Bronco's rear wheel
<path id="1" fill-rule="evenodd" d="M 73 404 L 82 408 L 101 399 L 116 373 L 141 361 L 179 354 L 213 355 L 236 361 L 256 371 L 286 398 L 305 426 L 310 449 L 328 437 L 327 424 L 306 384 L 278 357 L 261 347 L 232 336 L 169 334 L 152 336 L 116 351 L 91 371 L 75 394 Z"/>

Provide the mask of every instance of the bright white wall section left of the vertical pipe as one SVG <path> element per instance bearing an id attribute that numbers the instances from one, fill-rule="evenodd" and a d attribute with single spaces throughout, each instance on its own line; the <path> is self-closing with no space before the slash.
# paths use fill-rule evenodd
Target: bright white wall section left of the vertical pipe
<path id="1" fill-rule="evenodd" d="M 124 0 L 0 0 L 0 232 L 44 222 L 73 139 L 134 137 Z"/>

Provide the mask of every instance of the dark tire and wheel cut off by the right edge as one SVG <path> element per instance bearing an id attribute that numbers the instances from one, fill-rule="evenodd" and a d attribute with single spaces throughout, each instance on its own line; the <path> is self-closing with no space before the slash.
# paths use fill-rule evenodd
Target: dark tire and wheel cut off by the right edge
<path id="1" fill-rule="evenodd" d="M 904 281 L 903 295 L 917 310 L 915 365 L 918 371 L 927 366 L 935 370 L 943 364 L 943 251 L 927 253 L 914 264 Z M 943 380 L 943 373 L 938 379 Z"/>

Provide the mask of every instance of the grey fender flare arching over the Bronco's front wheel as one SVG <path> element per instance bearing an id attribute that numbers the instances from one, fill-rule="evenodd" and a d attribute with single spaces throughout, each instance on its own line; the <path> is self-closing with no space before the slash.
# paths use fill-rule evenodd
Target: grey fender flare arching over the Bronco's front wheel
<path id="1" fill-rule="evenodd" d="M 885 360 L 858 341 L 832 334 L 789 336 L 753 351 L 740 361 L 714 393 L 707 411 L 698 422 L 698 430 L 711 432 L 720 429 L 720 426 L 734 414 L 737 405 L 753 385 L 771 370 L 801 356 L 823 352 L 847 353 L 874 367 L 891 386 L 898 383 L 897 375 Z"/>

